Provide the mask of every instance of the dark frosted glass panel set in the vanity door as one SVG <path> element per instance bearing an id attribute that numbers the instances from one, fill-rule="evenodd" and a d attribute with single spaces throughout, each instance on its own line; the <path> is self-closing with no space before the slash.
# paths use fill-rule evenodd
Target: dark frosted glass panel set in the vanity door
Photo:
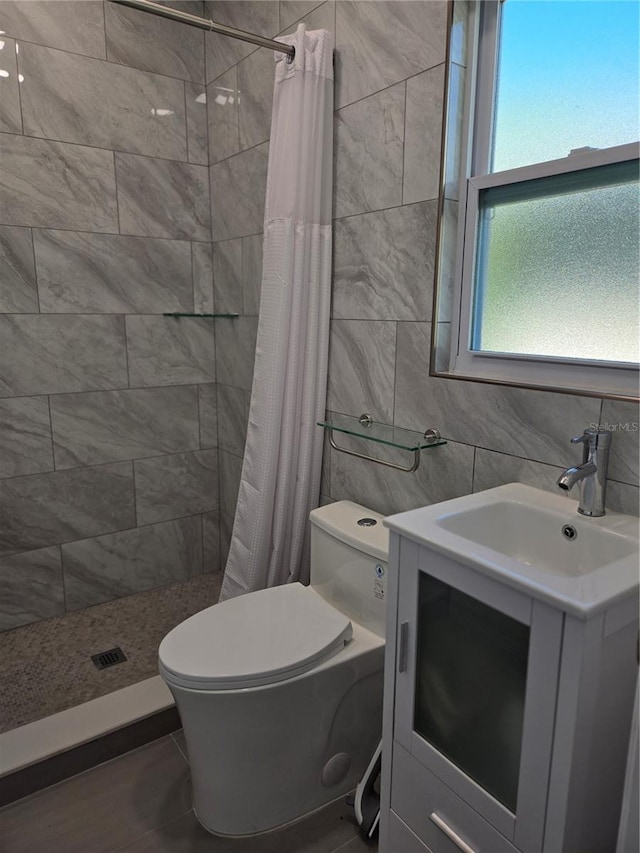
<path id="1" fill-rule="evenodd" d="M 420 573 L 415 731 L 516 811 L 528 625 Z"/>

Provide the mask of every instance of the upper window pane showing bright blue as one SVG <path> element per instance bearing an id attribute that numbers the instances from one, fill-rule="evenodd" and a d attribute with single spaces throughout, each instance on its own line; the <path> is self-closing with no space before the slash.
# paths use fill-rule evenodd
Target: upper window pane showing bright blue
<path id="1" fill-rule="evenodd" d="M 638 139 L 639 16 L 634 0 L 505 0 L 491 171 Z"/>

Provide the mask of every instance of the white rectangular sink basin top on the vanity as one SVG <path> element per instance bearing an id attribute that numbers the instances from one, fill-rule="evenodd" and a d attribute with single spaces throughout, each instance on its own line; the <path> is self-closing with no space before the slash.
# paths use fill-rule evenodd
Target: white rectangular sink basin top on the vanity
<path id="1" fill-rule="evenodd" d="M 510 483 L 385 524 L 483 574 L 586 617 L 638 588 L 637 518 L 585 518 L 577 501 Z"/>

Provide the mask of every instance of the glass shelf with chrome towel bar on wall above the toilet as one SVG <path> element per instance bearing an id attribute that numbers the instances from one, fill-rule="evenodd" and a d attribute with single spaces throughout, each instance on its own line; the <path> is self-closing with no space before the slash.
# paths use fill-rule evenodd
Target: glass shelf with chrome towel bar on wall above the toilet
<path id="1" fill-rule="evenodd" d="M 406 473 L 417 470 L 420 465 L 420 454 L 423 450 L 447 443 L 436 429 L 428 429 L 424 433 L 420 433 L 415 430 L 377 423 L 372 419 L 371 415 L 367 414 L 360 415 L 359 418 L 352 417 L 351 415 L 336 414 L 330 420 L 318 421 L 318 426 L 328 431 L 329 443 L 334 450 L 339 450 L 340 453 L 346 453 L 349 456 L 357 456 L 359 459 L 377 462 L 378 465 L 385 465 L 388 468 L 395 468 L 397 471 L 404 471 Z M 334 433 L 336 432 L 412 452 L 414 454 L 413 464 L 409 466 L 396 465 L 394 462 L 385 462 L 383 459 L 376 459 L 373 456 L 367 456 L 355 450 L 347 450 L 345 447 L 339 447 L 334 437 Z"/>

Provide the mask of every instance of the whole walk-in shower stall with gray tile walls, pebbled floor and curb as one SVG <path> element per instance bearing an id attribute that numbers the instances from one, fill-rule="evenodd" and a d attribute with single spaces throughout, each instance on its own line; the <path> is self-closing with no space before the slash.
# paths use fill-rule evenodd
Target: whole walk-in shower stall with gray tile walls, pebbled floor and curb
<path id="1" fill-rule="evenodd" d="M 1 4 L 0 802 L 175 728 L 219 595 L 295 23 L 219 5 Z"/>

